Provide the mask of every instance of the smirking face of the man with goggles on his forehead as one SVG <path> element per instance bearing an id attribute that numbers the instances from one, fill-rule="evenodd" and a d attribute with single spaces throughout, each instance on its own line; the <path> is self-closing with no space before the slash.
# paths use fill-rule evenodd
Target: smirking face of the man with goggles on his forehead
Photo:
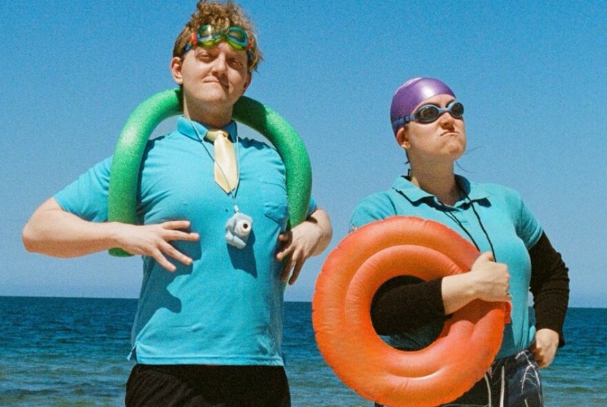
<path id="1" fill-rule="evenodd" d="M 174 58 L 171 70 L 175 81 L 183 85 L 184 107 L 231 112 L 251 80 L 247 63 L 246 52 L 232 50 L 226 41 L 213 48 L 197 46 L 183 59 Z"/>

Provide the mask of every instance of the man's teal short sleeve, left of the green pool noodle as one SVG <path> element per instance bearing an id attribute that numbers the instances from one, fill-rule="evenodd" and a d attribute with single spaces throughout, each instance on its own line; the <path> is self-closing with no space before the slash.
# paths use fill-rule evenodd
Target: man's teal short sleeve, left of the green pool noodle
<path id="1" fill-rule="evenodd" d="M 110 186 L 109 157 L 81 175 L 54 195 L 55 201 L 66 212 L 95 222 L 108 220 L 108 190 Z"/>

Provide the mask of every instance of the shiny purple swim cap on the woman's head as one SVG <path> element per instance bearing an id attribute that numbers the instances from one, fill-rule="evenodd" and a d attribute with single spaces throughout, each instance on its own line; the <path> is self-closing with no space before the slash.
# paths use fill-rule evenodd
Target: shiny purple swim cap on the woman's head
<path id="1" fill-rule="evenodd" d="M 403 83 L 394 93 L 392 106 L 390 106 L 390 123 L 392 123 L 392 130 L 395 134 L 400 127 L 395 127 L 395 121 L 410 115 L 415 106 L 428 99 L 428 97 L 436 95 L 455 97 L 455 93 L 438 79 L 413 78 Z"/>

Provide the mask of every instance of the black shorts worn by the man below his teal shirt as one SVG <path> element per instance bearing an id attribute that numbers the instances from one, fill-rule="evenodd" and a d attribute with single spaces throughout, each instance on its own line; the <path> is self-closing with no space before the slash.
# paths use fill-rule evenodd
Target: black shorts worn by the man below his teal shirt
<path id="1" fill-rule="evenodd" d="M 143 365 L 126 384 L 127 407 L 290 407 L 282 366 Z"/>

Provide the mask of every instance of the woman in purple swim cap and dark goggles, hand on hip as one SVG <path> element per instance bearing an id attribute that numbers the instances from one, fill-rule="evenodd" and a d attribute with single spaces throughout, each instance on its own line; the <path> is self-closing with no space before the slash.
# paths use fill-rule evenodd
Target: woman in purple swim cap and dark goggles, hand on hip
<path id="1" fill-rule="evenodd" d="M 512 321 L 490 371 L 444 406 L 543 406 L 539 368 L 564 345 L 569 279 L 561 255 L 518 192 L 455 174 L 455 161 L 466 152 L 464 106 L 445 83 L 406 81 L 392 97 L 390 123 L 408 157 L 408 175 L 363 199 L 350 230 L 391 216 L 416 216 L 459 232 L 482 254 L 461 275 L 387 281 L 371 307 L 375 330 L 396 348 L 417 350 L 431 344 L 444 320 L 470 301 L 510 301 Z"/>

